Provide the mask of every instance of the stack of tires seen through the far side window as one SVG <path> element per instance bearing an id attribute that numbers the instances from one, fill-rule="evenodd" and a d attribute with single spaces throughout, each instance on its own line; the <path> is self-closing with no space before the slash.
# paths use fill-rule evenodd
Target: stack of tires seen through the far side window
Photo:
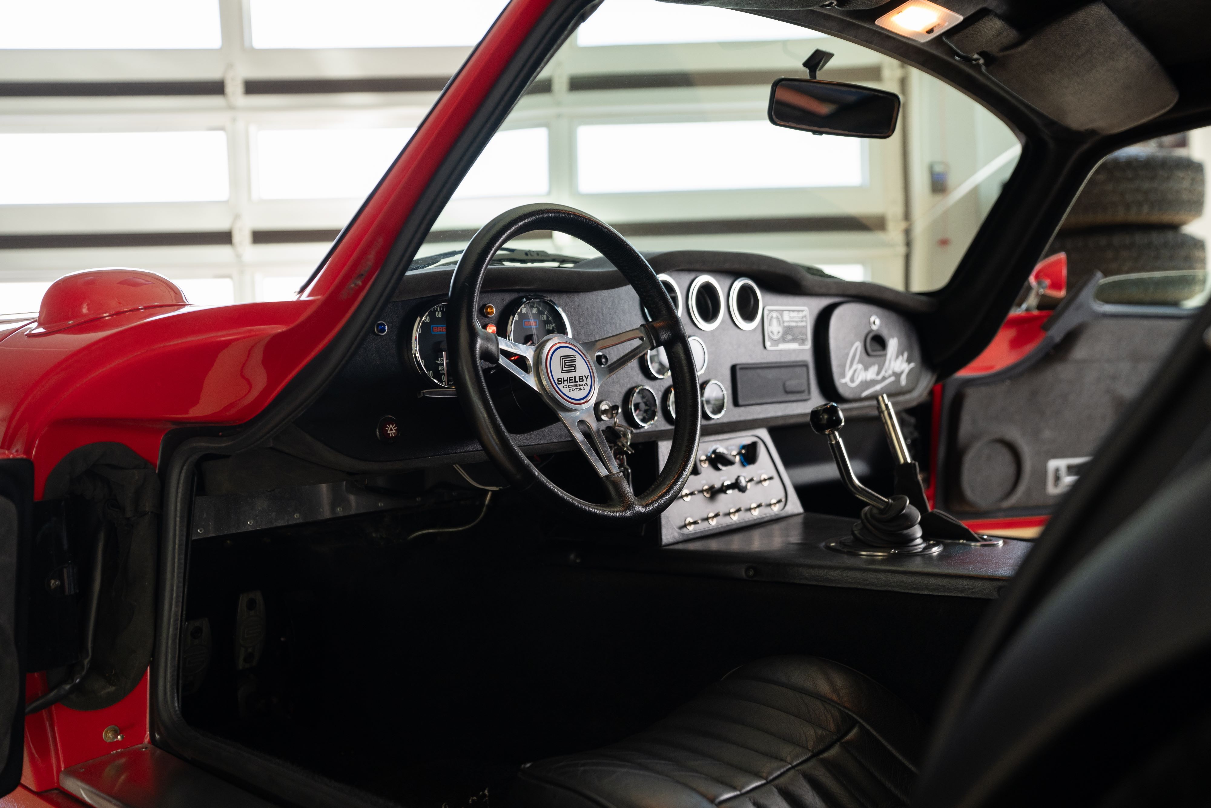
<path id="1" fill-rule="evenodd" d="M 1201 162 L 1171 149 L 1115 151 L 1089 178 L 1045 254 L 1068 254 L 1069 291 L 1095 271 L 1108 279 L 1157 273 L 1166 294 L 1181 298 L 1173 286 L 1184 283 L 1193 297 L 1204 281 L 1192 270 L 1206 270 L 1206 245 L 1180 228 L 1203 216 L 1205 182 Z"/>

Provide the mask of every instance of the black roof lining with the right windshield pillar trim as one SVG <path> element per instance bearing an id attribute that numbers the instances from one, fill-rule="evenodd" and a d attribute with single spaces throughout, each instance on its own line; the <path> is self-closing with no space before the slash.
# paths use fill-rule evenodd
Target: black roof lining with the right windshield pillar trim
<path id="1" fill-rule="evenodd" d="M 945 378 L 991 342 L 1027 275 L 1055 235 L 1089 173 L 1110 151 L 1211 120 L 1211 2 L 1207 0 L 1106 0 L 1165 67 L 1178 88 L 1166 113 L 1112 136 L 1077 132 L 1022 102 L 978 67 L 954 58 L 941 36 L 916 42 L 874 25 L 895 0 L 872 8 L 815 8 L 821 0 L 665 0 L 730 6 L 813 28 L 911 64 L 978 101 L 1022 141 L 1022 156 L 1000 199 L 976 234 L 951 281 L 924 293 L 937 311 L 916 317 L 930 360 Z M 753 6 L 780 6 L 754 8 Z M 868 0 L 838 0 L 839 6 Z M 964 17 L 981 8 L 1029 35 L 1087 0 L 945 0 Z M 797 6 L 788 8 L 788 6 Z M 1056 81 L 1063 81 L 1056 76 Z"/>

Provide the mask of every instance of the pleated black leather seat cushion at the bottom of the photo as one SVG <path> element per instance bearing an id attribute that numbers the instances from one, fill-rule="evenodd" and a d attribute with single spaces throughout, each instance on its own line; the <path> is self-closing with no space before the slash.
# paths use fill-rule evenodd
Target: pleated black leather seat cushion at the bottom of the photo
<path id="1" fill-rule="evenodd" d="M 873 680 L 814 657 L 736 669 L 650 729 L 524 767 L 527 808 L 868 808 L 908 803 L 925 733 Z"/>

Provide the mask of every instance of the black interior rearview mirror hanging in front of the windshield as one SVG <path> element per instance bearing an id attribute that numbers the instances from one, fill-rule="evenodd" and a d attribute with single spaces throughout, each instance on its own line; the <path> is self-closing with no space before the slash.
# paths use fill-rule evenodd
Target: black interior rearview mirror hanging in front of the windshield
<path id="1" fill-rule="evenodd" d="M 900 96 L 822 79 L 777 79 L 769 91 L 769 122 L 816 134 L 886 138 L 896 131 Z"/>

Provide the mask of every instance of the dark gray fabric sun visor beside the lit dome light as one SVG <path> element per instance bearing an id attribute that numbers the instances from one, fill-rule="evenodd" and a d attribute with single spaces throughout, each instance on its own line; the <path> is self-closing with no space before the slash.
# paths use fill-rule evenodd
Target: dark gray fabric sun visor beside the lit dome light
<path id="1" fill-rule="evenodd" d="M 943 36 L 1014 94 L 1068 128 L 1113 134 L 1160 115 L 1177 87 L 1135 34 L 1094 2 L 1022 36 L 985 13 Z"/>

